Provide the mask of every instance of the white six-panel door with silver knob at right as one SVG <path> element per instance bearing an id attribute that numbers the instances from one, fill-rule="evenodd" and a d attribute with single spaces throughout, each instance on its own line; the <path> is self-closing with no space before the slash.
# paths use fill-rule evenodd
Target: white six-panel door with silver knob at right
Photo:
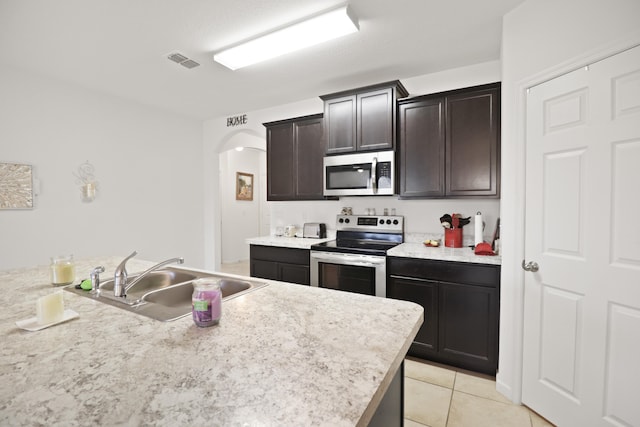
<path id="1" fill-rule="evenodd" d="M 531 88 L 526 144 L 522 401 L 640 426 L 640 47 Z"/>

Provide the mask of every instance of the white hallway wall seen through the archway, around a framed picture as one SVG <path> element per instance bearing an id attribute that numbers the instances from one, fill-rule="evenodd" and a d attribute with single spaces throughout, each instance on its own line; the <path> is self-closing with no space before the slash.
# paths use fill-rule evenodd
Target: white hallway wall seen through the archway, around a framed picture
<path id="1" fill-rule="evenodd" d="M 262 150 L 227 150 L 220 153 L 220 210 L 222 262 L 249 259 L 248 237 L 260 233 L 261 200 L 265 199 L 261 172 L 266 164 Z M 236 200 L 236 172 L 253 174 L 253 200 Z"/>

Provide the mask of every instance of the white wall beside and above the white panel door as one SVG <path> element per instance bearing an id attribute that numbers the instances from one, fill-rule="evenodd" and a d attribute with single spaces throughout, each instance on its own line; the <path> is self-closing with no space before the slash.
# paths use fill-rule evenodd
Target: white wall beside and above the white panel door
<path id="1" fill-rule="evenodd" d="M 528 0 L 503 20 L 503 256 L 497 386 L 516 402 L 522 375 L 525 89 L 640 43 L 638 17 L 637 0 Z"/>

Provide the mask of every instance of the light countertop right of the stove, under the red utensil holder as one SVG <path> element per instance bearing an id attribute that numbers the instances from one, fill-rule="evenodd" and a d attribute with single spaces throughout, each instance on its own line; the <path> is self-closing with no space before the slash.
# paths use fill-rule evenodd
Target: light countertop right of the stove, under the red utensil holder
<path id="1" fill-rule="evenodd" d="M 475 264 L 500 265 L 502 258 L 499 255 L 476 255 L 473 249 L 448 248 L 446 246 L 428 247 L 423 243 L 402 243 L 387 251 L 387 256 L 404 258 L 419 258 L 439 261 L 470 262 Z"/>

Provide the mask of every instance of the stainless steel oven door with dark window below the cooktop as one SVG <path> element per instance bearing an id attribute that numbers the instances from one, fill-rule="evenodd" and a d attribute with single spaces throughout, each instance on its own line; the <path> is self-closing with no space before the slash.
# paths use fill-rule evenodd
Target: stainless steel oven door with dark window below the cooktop
<path id="1" fill-rule="evenodd" d="M 384 256 L 311 251 L 311 286 L 386 297 Z"/>

